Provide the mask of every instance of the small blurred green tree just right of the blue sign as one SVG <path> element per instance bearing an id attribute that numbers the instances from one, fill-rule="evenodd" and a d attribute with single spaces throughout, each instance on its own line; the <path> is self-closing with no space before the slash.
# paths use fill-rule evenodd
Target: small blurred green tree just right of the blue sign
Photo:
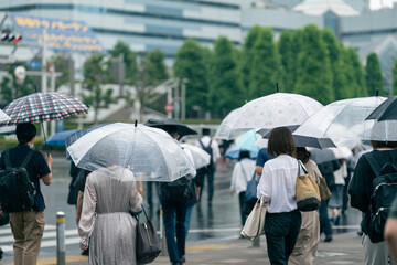
<path id="1" fill-rule="evenodd" d="M 138 73 L 137 56 L 130 46 L 122 41 L 117 41 L 115 46 L 109 52 L 112 57 L 118 57 L 120 54 L 122 54 L 122 61 L 126 65 L 126 80 L 129 84 L 135 82 Z"/>

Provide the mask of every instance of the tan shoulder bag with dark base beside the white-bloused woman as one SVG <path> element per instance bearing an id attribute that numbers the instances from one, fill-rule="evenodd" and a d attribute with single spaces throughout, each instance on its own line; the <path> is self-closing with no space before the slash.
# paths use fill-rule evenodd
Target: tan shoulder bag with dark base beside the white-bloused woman
<path id="1" fill-rule="evenodd" d="M 300 168 L 303 169 L 304 174 L 300 174 Z M 321 204 L 319 186 L 299 160 L 296 183 L 296 201 L 298 210 L 301 212 L 318 210 Z"/>

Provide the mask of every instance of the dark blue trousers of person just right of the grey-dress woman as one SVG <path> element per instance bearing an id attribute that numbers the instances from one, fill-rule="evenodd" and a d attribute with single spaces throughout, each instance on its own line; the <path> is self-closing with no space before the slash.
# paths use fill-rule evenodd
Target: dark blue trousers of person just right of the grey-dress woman
<path id="1" fill-rule="evenodd" d="M 187 203 L 183 199 L 162 202 L 167 250 L 171 263 L 179 262 L 185 255 L 186 209 Z"/>

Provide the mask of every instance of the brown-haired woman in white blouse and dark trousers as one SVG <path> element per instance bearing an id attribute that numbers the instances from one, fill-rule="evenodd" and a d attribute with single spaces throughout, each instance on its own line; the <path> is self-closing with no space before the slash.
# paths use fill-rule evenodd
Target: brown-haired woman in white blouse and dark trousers
<path id="1" fill-rule="evenodd" d="M 294 157 L 296 145 L 286 127 L 270 132 L 268 153 L 276 157 L 264 166 L 257 195 L 267 202 L 266 243 L 270 264 L 288 264 L 297 243 L 302 216 L 296 202 L 296 183 L 300 171 Z"/>

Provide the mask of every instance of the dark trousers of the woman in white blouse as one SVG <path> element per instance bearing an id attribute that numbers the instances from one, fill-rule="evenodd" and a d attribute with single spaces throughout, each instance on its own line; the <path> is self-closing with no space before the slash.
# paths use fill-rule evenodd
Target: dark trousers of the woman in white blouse
<path id="1" fill-rule="evenodd" d="M 288 264 L 301 224 L 302 216 L 298 210 L 286 213 L 266 213 L 265 231 L 270 264 Z"/>

